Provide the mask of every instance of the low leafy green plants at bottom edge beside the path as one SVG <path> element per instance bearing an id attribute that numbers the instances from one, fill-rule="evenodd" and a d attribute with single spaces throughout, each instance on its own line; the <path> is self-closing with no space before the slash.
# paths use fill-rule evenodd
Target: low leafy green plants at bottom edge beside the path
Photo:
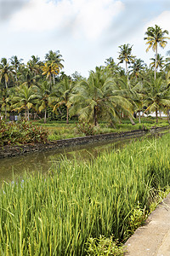
<path id="1" fill-rule="evenodd" d="M 123 247 L 118 247 L 116 241 L 113 241 L 113 236 L 105 238 L 105 236 L 99 236 L 99 239 L 90 237 L 88 240 L 89 256 L 123 256 Z"/>

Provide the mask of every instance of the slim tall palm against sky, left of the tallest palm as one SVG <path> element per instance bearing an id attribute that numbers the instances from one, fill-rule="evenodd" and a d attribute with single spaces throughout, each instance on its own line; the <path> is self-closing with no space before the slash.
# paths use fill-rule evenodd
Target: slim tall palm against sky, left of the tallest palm
<path id="1" fill-rule="evenodd" d="M 119 63 L 123 63 L 125 61 L 126 73 L 127 73 L 127 64 L 133 63 L 135 58 L 135 56 L 132 55 L 133 45 L 130 46 L 130 44 L 123 44 L 119 46 L 119 48 L 121 50 L 119 52 L 118 60 L 120 60 Z M 128 73 L 127 73 L 127 76 L 128 76 Z"/>

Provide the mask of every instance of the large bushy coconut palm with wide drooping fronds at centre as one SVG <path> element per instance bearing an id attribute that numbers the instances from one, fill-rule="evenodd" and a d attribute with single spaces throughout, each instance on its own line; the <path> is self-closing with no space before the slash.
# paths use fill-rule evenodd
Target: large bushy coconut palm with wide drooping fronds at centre
<path id="1" fill-rule="evenodd" d="M 101 67 L 91 72 L 88 80 L 77 84 L 71 96 L 71 113 L 79 119 L 94 121 L 100 118 L 118 118 L 120 108 L 130 109 L 130 102 L 115 91 L 116 83 Z"/>

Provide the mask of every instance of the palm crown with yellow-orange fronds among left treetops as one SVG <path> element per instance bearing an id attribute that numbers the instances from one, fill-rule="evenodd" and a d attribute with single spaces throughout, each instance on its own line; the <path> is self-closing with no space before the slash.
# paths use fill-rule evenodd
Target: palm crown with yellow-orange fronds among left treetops
<path id="1" fill-rule="evenodd" d="M 52 76 L 55 84 L 54 75 L 58 75 L 58 74 L 59 74 L 59 66 L 53 61 L 45 62 L 44 65 L 42 66 L 42 75 L 46 75 L 46 79 L 49 79 L 51 86 L 52 86 Z"/>

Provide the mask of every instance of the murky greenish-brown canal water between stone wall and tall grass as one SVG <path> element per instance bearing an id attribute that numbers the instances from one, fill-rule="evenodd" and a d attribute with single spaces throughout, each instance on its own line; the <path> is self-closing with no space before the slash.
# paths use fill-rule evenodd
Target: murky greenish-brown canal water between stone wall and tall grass
<path id="1" fill-rule="evenodd" d="M 162 133 L 161 133 L 162 134 Z M 81 147 L 67 149 L 53 149 L 39 153 L 21 154 L 11 158 L 0 159 L 0 183 L 12 181 L 13 177 L 22 177 L 24 172 L 48 172 L 52 163 L 63 160 L 64 157 L 71 160 L 94 160 L 104 151 L 110 152 L 126 147 L 128 143 L 141 140 L 146 137 L 160 136 L 159 134 L 145 135 L 143 137 L 131 137 L 129 139 L 110 140 L 105 143 L 93 143 Z"/>

